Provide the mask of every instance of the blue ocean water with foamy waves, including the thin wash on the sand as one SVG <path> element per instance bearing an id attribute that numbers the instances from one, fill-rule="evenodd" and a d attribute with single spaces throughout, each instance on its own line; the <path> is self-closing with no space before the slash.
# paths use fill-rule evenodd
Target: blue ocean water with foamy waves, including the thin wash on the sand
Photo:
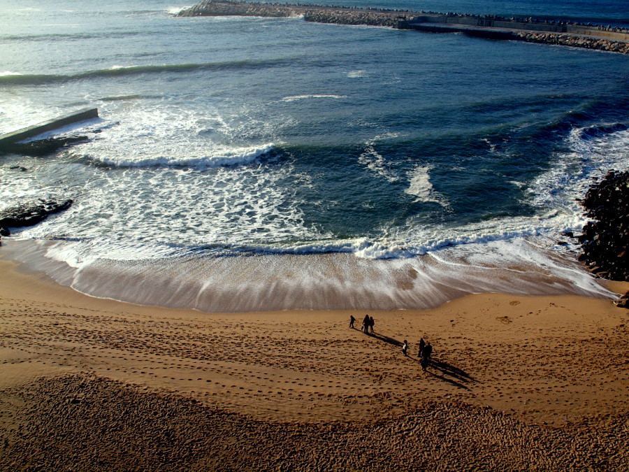
<path id="1" fill-rule="evenodd" d="M 624 24 L 622 3 L 355 4 Z M 593 179 L 628 167 L 629 57 L 175 17 L 191 4 L 0 5 L 0 132 L 100 113 L 54 134 L 84 143 L 0 155 L 0 210 L 74 200 L 3 257 L 95 296 L 215 311 L 611 296 L 564 233 Z"/>

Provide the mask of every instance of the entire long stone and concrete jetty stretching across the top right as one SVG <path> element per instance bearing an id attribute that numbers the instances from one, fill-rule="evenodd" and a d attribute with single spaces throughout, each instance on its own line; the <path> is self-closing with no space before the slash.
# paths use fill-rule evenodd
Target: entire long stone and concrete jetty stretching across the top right
<path id="1" fill-rule="evenodd" d="M 565 45 L 629 54 L 627 29 L 612 25 L 534 18 L 215 0 L 196 3 L 195 6 L 182 10 L 178 16 L 303 17 L 305 21 L 318 23 L 362 24 L 433 33 L 461 32 L 469 36 L 491 39 Z"/>

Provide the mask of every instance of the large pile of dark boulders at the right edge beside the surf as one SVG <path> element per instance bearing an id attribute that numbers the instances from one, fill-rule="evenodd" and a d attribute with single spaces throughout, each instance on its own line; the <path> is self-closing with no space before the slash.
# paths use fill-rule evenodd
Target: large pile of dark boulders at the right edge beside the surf
<path id="1" fill-rule="evenodd" d="M 579 260 L 602 278 L 629 281 L 629 172 L 609 171 L 581 204 L 593 221 L 578 237 Z"/>

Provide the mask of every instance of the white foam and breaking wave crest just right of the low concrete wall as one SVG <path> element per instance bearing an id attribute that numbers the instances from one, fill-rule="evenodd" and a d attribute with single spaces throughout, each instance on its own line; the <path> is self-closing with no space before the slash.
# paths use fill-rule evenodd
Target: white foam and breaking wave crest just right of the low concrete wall
<path id="1" fill-rule="evenodd" d="M 274 124 L 277 129 L 283 126 L 260 122 L 253 116 L 225 117 L 207 111 L 199 115 L 196 110 L 163 107 L 159 103 L 151 108 L 144 103 L 124 101 L 103 105 L 120 108 L 120 121 L 103 113 L 109 118 L 109 126 L 94 140 L 76 146 L 75 152 L 108 166 L 207 169 L 246 165 L 274 149 L 273 143 L 261 142 L 259 135 L 273 132 L 270 128 Z M 249 140 L 247 134 L 256 137 Z"/>

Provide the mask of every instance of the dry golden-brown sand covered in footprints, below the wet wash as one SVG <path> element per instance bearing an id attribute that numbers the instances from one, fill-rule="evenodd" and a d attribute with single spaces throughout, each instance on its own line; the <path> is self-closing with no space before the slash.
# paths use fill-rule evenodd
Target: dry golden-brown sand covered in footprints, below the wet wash
<path id="1" fill-rule="evenodd" d="M 367 336 L 365 312 L 136 306 L 6 261 L 0 280 L 2 470 L 629 470 L 609 300 L 472 295 L 370 313 Z"/>

